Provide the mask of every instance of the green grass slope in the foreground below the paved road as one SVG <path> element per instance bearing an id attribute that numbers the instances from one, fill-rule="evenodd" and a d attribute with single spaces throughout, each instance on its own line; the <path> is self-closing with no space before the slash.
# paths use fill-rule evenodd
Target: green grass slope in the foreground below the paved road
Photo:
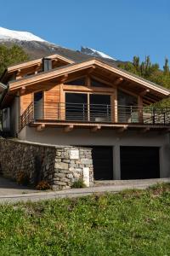
<path id="1" fill-rule="evenodd" d="M 0 255 L 170 255 L 170 184 L 2 205 Z"/>

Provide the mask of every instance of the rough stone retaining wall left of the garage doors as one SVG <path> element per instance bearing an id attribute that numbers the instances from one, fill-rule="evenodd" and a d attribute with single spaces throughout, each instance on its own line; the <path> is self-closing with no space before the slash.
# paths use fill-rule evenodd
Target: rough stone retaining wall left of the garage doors
<path id="1" fill-rule="evenodd" d="M 91 148 L 52 146 L 19 140 L 0 139 L 0 170 L 4 177 L 16 179 L 26 173 L 31 185 L 45 180 L 53 189 L 68 189 L 82 178 L 94 184 Z"/>

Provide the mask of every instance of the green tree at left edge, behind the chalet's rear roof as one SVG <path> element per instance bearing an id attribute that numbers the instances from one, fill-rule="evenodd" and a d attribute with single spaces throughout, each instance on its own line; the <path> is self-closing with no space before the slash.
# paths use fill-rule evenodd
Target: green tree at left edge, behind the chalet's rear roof
<path id="1" fill-rule="evenodd" d="M 5 45 L 0 45 L 0 75 L 8 66 L 28 60 L 29 56 L 20 46 L 13 45 L 8 48 Z"/>

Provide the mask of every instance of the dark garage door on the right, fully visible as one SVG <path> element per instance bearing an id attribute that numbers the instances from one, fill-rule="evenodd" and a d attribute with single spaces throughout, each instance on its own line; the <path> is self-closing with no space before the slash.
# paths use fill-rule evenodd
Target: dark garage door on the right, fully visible
<path id="1" fill-rule="evenodd" d="M 121 147 L 121 179 L 160 177 L 159 148 Z"/>

